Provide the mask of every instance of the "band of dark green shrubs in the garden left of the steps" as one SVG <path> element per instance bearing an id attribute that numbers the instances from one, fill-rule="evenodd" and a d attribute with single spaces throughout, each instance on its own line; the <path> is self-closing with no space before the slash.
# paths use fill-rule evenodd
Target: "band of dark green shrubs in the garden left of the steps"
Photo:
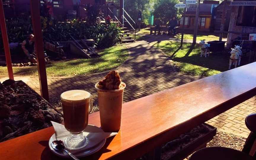
<path id="1" fill-rule="evenodd" d="M 103 13 L 97 9 L 97 6 L 88 5 L 87 15 L 86 21 L 73 19 L 71 22 L 58 22 L 49 17 L 41 17 L 44 40 L 52 42 L 73 40 L 73 38 L 94 39 L 98 48 L 108 48 L 121 41 L 119 26 L 101 23 Z M 7 19 L 6 25 L 9 43 L 21 43 L 26 35 L 33 33 L 30 16 Z M 0 48 L 2 47 L 2 38 L 0 38 Z"/>

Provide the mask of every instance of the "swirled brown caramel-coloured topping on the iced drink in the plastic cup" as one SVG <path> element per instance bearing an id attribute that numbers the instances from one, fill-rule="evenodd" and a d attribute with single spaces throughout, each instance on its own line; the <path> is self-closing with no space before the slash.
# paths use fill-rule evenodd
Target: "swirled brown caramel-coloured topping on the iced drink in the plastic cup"
<path id="1" fill-rule="evenodd" d="M 114 89 L 120 89 L 121 84 L 121 78 L 119 76 L 119 73 L 116 71 L 110 71 L 108 75 L 105 77 L 105 79 L 101 80 L 98 83 L 99 89 L 105 89 L 105 90 L 114 90 Z"/>

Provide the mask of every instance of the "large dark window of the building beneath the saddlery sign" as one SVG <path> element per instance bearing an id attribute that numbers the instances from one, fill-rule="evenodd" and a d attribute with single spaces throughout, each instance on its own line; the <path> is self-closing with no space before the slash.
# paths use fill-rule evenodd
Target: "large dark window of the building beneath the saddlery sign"
<path id="1" fill-rule="evenodd" d="M 236 25 L 256 27 L 256 6 L 239 6 Z"/>

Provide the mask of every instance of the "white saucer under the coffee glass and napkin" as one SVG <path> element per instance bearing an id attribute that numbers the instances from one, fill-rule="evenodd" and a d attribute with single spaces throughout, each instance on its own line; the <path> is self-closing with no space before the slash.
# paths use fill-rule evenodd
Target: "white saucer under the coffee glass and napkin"
<path id="1" fill-rule="evenodd" d="M 90 125 L 90 128 L 93 129 L 93 132 L 104 132 L 101 128 L 95 126 L 95 125 Z M 52 151 L 52 153 L 54 153 L 55 155 L 57 156 L 60 156 L 60 157 L 63 157 L 63 158 L 69 158 L 70 156 L 65 152 L 65 151 L 56 151 L 52 148 L 51 146 L 51 143 L 52 141 L 55 141 L 56 138 L 55 138 L 55 133 L 51 136 L 51 138 L 49 139 L 49 147 L 50 147 L 50 150 Z M 90 141 L 89 141 L 90 143 Z M 93 148 L 89 148 L 85 151 L 80 151 L 79 153 L 77 154 L 74 154 L 76 157 L 85 157 L 85 156 L 89 156 L 91 154 L 94 154 L 95 152 L 99 151 L 103 146 L 104 144 L 106 143 L 106 139 L 104 139 L 103 141 L 101 141 L 97 146 L 93 147 Z"/>

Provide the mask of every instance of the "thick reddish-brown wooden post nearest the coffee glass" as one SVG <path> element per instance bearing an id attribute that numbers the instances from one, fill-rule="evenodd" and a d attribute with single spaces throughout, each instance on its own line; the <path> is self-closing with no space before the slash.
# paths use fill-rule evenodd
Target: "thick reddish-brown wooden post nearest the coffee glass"
<path id="1" fill-rule="evenodd" d="M 31 7 L 31 20 L 33 25 L 33 33 L 35 35 L 35 47 L 36 47 L 36 57 L 37 57 L 37 68 L 39 74 L 40 82 L 40 92 L 44 99 L 49 100 L 48 86 L 47 86 L 47 76 L 44 60 L 44 43 L 43 35 L 40 22 L 40 1 L 30 0 Z"/>

